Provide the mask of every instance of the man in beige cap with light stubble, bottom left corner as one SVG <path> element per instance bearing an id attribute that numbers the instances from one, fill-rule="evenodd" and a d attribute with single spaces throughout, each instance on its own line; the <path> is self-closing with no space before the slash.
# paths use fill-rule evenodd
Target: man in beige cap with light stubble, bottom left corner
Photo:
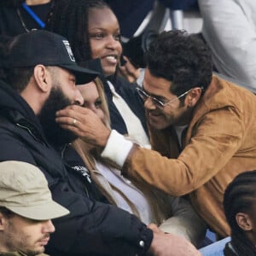
<path id="1" fill-rule="evenodd" d="M 51 218 L 69 211 L 52 200 L 48 183 L 36 166 L 0 163 L 0 255 L 46 255 L 55 231 Z"/>

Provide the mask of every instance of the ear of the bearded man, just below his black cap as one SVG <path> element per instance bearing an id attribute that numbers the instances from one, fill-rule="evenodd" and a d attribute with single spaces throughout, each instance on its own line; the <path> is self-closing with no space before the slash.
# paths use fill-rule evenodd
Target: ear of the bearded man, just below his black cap
<path id="1" fill-rule="evenodd" d="M 34 67 L 34 79 L 38 84 L 38 89 L 48 92 L 51 88 L 51 76 L 49 70 L 44 65 Z"/>

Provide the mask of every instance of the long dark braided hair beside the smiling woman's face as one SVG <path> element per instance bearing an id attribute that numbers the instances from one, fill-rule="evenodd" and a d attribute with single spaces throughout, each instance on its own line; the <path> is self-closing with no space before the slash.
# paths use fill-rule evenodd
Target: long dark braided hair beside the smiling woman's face
<path id="1" fill-rule="evenodd" d="M 91 59 L 88 14 L 92 8 L 110 9 L 102 0 L 55 0 L 45 26 L 67 38 L 78 63 Z"/>

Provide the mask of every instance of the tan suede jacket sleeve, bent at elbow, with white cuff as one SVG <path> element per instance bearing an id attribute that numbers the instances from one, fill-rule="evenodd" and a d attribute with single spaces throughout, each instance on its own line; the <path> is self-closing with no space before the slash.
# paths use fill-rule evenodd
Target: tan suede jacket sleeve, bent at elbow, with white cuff
<path id="1" fill-rule="evenodd" d="M 124 175 L 144 180 L 170 195 L 186 195 L 214 177 L 240 148 L 244 133 L 241 119 L 241 113 L 234 108 L 207 113 L 195 125 L 189 144 L 177 159 L 154 150 L 131 148 L 125 140 L 115 150 L 113 134 L 109 137 L 113 141 L 107 143 L 102 156 L 123 166 Z"/>

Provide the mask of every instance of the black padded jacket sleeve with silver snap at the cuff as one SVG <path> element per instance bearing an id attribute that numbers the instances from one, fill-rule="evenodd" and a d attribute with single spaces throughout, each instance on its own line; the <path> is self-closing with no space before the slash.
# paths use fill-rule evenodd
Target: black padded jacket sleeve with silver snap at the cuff
<path id="1" fill-rule="evenodd" d="M 55 201 L 71 213 L 53 220 L 55 233 L 46 253 L 128 256 L 148 251 L 153 233 L 136 216 L 74 193 L 67 183 L 58 183 L 51 191 Z"/>

